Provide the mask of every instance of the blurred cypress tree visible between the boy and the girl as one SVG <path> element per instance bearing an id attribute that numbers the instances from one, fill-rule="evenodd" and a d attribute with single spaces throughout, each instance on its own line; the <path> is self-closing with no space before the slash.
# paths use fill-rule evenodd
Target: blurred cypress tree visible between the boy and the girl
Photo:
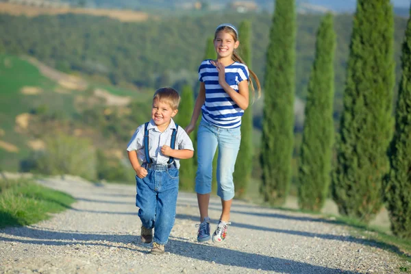
<path id="1" fill-rule="evenodd" d="M 175 116 L 175 122 L 179 127 L 186 127 L 190 123 L 192 109 L 194 108 L 194 96 L 190 85 L 186 84 L 182 88 L 181 103 L 179 111 Z M 192 140 L 194 136 L 192 132 L 189 136 Z M 181 190 L 194 190 L 195 178 L 195 158 L 180 160 L 179 168 L 179 188 Z"/>

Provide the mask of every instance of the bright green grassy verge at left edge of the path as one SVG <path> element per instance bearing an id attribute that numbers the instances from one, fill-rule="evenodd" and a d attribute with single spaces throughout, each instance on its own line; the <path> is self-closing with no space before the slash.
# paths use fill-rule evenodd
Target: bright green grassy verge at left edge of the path
<path id="1" fill-rule="evenodd" d="M 30 225 L 70 208 L 75 199 L 26 179 L 0 180 L 0 228 Z"/>

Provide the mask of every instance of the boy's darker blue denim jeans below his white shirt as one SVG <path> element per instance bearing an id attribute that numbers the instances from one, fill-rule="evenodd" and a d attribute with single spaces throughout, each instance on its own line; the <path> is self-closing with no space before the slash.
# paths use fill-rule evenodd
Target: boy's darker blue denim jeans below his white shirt
<path id="1" fill-rule="evenodd" d="M 175 221 L 179 171 L 147 169 L 147 176 L 136 176 L 136 206 L 142 225 L 154 228 L 154 242 L 166 245 Z"/>

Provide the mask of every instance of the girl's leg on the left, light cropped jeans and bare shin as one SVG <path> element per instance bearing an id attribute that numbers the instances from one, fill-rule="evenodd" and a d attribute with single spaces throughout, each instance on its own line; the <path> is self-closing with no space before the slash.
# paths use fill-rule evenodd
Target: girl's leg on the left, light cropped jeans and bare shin
<path id="1" fill-rule="evenodd" d="M 197 134 L 197 174 L 195 191 L 199 203 L 200 221 L 208 217 L 212 182 L 212 159 L 217 149 L 216 127 L 201 121 Z"/>

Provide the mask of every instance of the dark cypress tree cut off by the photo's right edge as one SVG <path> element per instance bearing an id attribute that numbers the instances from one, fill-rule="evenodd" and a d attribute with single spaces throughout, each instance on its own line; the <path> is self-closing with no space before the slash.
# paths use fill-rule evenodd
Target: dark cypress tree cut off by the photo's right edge
<path id="1" fill-rule="evenodd" d="M 411 18 L 408 19 L 401 61 L 403 74 L 395 110 L 395 134 L 389 151 L 391 170 L 385 195 L 393 233 L 411 239 Z"/>

